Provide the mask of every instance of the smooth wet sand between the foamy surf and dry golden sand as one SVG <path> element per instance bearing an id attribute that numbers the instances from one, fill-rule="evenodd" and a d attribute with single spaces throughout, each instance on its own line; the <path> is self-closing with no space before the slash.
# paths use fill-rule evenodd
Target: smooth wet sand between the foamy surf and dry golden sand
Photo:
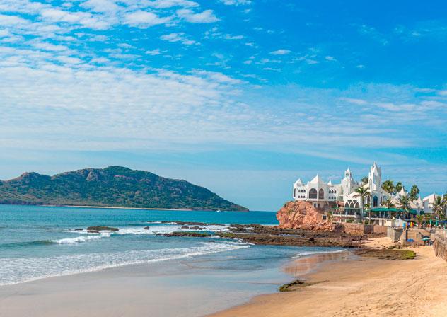
<path id="1" fill-rule="evenodd" d="M 269 294 L 298 275 L 318 270 L 321 257 L 330 260 L 332 255 L 342 253 L 303 255 L 261 271 L 216 270 L 199 257 L 45 277 L 1 286 L 0 316 L 204 316 Z M 216 277 L 224 284 L 210 284 Z M 167 307 L 167 298 L 177 304 Z"/>

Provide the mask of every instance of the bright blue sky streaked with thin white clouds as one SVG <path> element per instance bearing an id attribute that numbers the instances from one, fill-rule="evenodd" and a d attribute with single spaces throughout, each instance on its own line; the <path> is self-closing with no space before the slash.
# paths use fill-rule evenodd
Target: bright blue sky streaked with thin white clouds
<path id="1" fill-rule="evenodd" d="M 127 166 L 277 210 L 447 190 L 445 1 L 0 0 L 0 179 Z"/>

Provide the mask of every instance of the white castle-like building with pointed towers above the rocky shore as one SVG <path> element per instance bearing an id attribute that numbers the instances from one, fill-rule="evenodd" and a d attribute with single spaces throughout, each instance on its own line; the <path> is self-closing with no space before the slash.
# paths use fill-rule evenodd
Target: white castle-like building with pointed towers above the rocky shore
<path id="1" fill-rule="evenodd" d="M 364 207 L 366 204 L 370 207 L 371 212 L 378 217 L 386 218 L 389 212 L 399 214 L 402 210 L 395 208 L 387 209 L 383 207 L 383 202 L 391 197 L 395 206 L 398 206 L 399 198 L 409 195 L 402 188 L 400 192 L 391 195 L 382 189 L 382 172 L 381 168 L 373 163 L 368 173 L 368 182 L 356 182 L 349 168 L 344 171 L 344 178 L 339 184 L 333 184 L 332 181 L 325 182 L 319 175 L 310 180 L 308 183 L 298 178 L 293 186 L 293 198 L 298 201 L 306 201 L 313 204 L 313 207 L 329 211 L 332 209 L 339 214 L 342 213 L 351 217 L 362 217 L 361 215 L 361 198 L 356 189 L 363 187 L 368 190 L 369 194 L 364 197 Z M 431 194 L 424 199 L 420 196 L 417 200 L 410 202 L 410 214 L 431 214 L 433 210 L 436 194 Z"/>

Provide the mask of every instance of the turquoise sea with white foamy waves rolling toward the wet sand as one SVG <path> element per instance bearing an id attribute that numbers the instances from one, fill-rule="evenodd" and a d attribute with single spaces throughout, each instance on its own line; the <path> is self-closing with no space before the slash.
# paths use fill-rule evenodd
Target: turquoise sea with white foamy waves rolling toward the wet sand
<path id="1" fill-rule="evenodd" d="M 216 270 L 255 271 L 330 248 L 253 246 L 233 239 L 158 236 L 188 231 L 161 221 L 277 224 L 274 212 L 199 212 L 0 205 L 0 285 L 124 265 L 216 259 Z M 118 232 L 90 234 L 87 226 Z M 149 230 L 144 229 L 149 226 Z M 202 231 L 228 230 L 208 225 Z M 77 230 L 76 230 L 77 229 Z M 82 229 L 82 230 L 80 230 Z M 213 267 L 211 267 L 212 269 Z"/>

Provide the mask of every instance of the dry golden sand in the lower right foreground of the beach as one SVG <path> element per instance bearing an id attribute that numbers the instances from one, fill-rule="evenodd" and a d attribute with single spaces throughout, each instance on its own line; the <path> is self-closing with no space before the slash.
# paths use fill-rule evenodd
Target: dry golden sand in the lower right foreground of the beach
<path id="1" fill-rule="evenodd" d="M 388 244 L 388 238 L 369 243 Z M 308 275 L 309 282 L 318 284 L 257 296 L 211 316 L 447 316 L 447 263 L 436 258 L 431 246 L 412 250 L 417 253 L 414 260 L 327 263 Z"/>

